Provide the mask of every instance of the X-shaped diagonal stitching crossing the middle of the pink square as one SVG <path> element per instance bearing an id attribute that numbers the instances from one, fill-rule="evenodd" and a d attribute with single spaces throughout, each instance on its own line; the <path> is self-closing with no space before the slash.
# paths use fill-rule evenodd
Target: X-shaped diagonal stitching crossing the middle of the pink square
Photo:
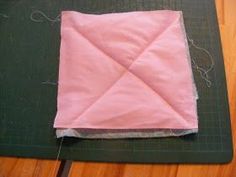
<path id="1" fill-rule="evenodd" d="M 84 111 L 82 111 L 82 113 L 80 113 L 79 116 L 82 116 L 85 112 L 87 112 L 87 110 L 89 110 L 98 100 L 100 100 L 104 95 L 106 95 L 106 93 L 111 90 L 113 88 L 113 86 L 124 76 L 124 74 L 126 72 L 129 72 L 130 74 L 132 74 L 134 77 L 136 77 L 137 79 L 139 79 L 142 83 L 144 83 L 144 85 L 146 85 L 147 87 L 149 87 L 155 94 L 157 94 L 169 107 L 170 109 L 172 109 L 174 112 L 176 112 L 180 117 L 183 118 L 182 115 L 180 115 L 180 113 L 178 111 L 175 110 L 175 108 L 173 108 L 173 106 L 166 100 L 164 99 L 162 96 L 160 96 L 160 94 L 149 84 L 147 84 L 145 81 L 143 81 L 143 79 L 139 78 L 138 76 L 136 76 L 132 71 L 129 70 L 129 68 L 135 63 L 135 61 L 152 45 L 152 43 L 154 43 L 160 36 L 162 36 L 168 29 L 170 26 L 172 26 L 172 24 L 174 24 L 176 21 L 178 20 L 178 18 L 176 20 L 174 20 L 171 24 L 169 24 L 168 28 L 166 28 L 165 30 L 163 30 L 161 32 L 161 34 L 157 34 L 156 37 L 153 38 L 153 40 L 151 40 L 146 47 L 144 47 L 141 52 L 137 55 L 137 57 L 133 60 L 133 62 L 129 65 L 128 68 L 126 68 L 126 66 L 124 66 L 123 64 L 121 64 L 120 62 L 118 62 L 117 60 L 113 59 L 112 56 L 110 56 L 107 52 L 105 52 L 104 50 L 102 50 L 100 47 L 98 47 L 91 39 L 89 39 L 85 34 L 83 34 L 81 31 L 79 31 L 78 28 L 74 28 L 77 29 L 76 31 L 84 38 L 86 39 L 90 44 L 92 44 L 95 48 L 97 48 L 100 52 L 102 52 L 105 56 L 107 56 L 108 58 L 110 58 L 112 61 L 115 61 L 117 64 L 119 64 L 121 67 L 123 67 L 125 69 L 125 71 L 121 74 L 121 76 L 113 83 L 111 84 L 111 86 L 109 88 L 107 88 L 104 93 L 102 93 L 92 104 L 90 104 Z"/>

